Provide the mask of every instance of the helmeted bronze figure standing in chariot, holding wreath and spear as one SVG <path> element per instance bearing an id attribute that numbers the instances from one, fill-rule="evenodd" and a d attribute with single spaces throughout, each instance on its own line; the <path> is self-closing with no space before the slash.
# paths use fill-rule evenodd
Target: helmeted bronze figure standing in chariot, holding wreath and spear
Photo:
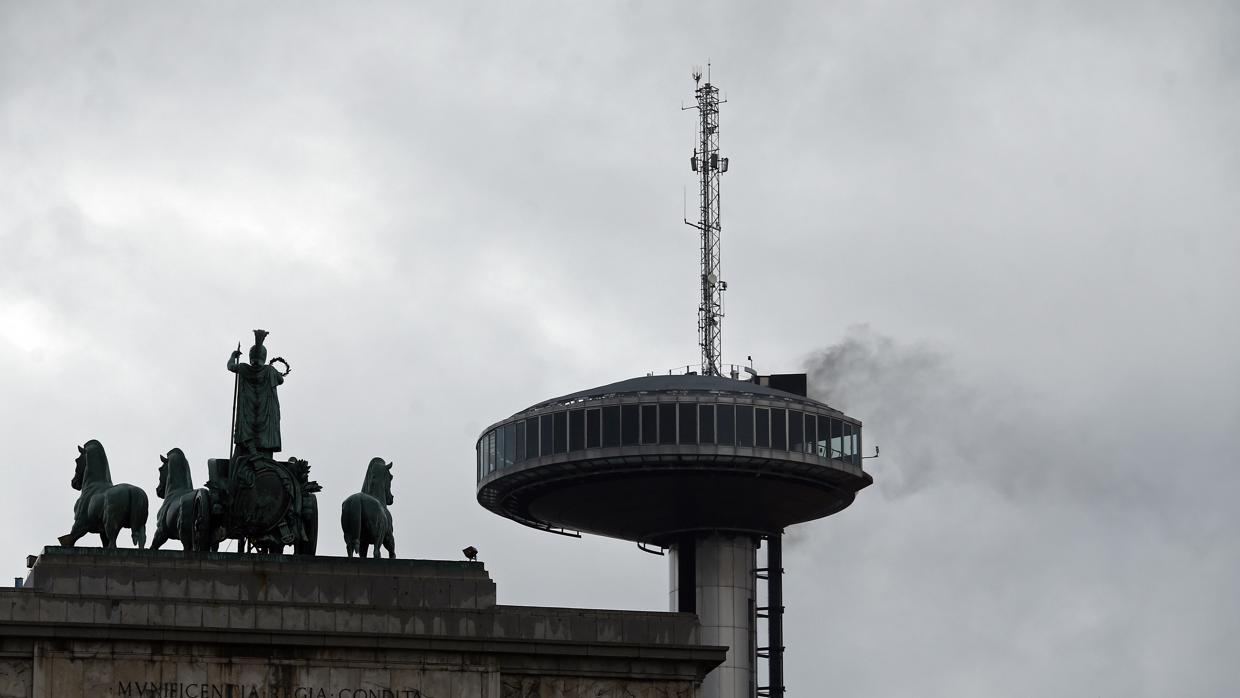
<path id="1" fill-rule="evenodd" d="M 289 362 L 275 357 L 267 363 L 267 330 L 254 330 L 254 346 L 249 347 L 249 363 L 241 363 L 241 345 L 228 358 L 228 371 L 237 374 L 233 393 L 233 455 L 280 451 L 280 399 L 277 386 L 289 374 Z M 275 363 L 283 363 L 278 371 Z"/>

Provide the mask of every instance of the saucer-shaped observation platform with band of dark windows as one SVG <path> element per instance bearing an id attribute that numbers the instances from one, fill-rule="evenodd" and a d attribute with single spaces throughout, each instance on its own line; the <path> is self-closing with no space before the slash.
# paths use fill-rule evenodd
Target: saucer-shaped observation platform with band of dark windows
<path id="1" fill-rule="evenodd" d="M 534 528 L 666 544 L 777 533 L 836 513 L 873 479 L 861 422 L 713 376 L 647 376 L 538 403 L 477 440 L 477 501 Z"/>

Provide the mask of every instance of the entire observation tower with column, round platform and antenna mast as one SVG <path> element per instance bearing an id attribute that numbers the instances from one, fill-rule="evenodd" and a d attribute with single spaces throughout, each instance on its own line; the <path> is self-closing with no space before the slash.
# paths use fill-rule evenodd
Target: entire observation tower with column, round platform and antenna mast
<path id="1" fill-rule="evenodd" d="M 842 511 L 873 480 L 862 469 L 861 422 L 810 398 L 805 374 L 719 362 L 723 102 L 709 77 L 693 77 L 701 366 L 542 400 L 486 428 L 477 501 L 541 531 L 666 550 L 671 610 L 697 614 L 702 643 L 728 647 L 702 696 L 781 697 L 784 528 Z"/>

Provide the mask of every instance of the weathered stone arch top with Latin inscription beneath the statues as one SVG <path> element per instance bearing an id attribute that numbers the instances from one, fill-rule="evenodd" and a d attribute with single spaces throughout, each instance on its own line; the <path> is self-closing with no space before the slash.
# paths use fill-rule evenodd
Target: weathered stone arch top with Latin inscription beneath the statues
<path id="1" fill-rule="evenodd" d="M 692 614 L 506 606 L 481 563 L 47 548 L 0 698 L 696 696 Z"/>

